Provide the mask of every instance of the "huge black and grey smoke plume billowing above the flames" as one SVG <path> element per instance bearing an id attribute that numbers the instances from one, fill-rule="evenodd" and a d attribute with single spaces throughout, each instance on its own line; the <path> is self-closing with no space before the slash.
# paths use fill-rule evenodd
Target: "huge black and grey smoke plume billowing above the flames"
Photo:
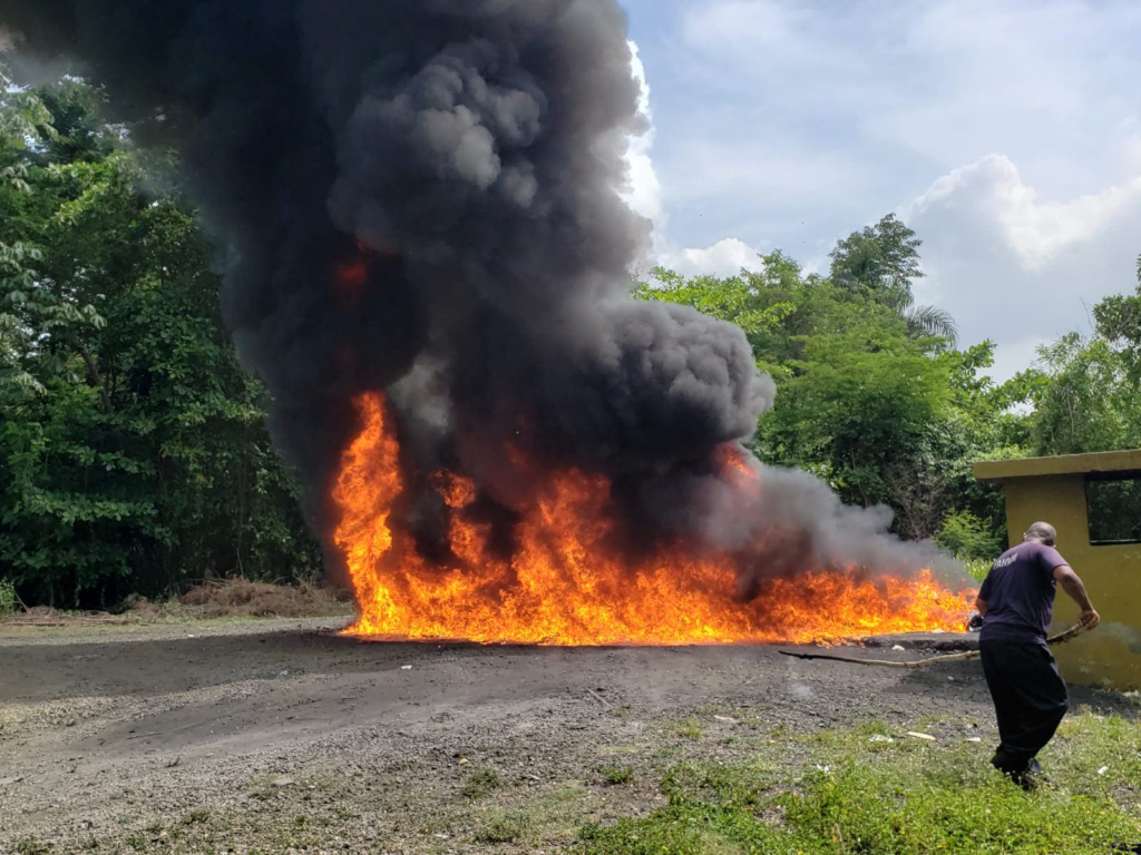
<path id="1" fill-rule="evenodd" d="M 767 472 L 742 507 L 713 474 L 775 389 L 741 331 L 625 296 L 649 226 L 616 193 L 642 129 L 614 0 L 0 0 L 0 24 L 184 152 L 322 531 L 351 399 L 383 389 L 424 543 L 440 466 L 509 526 L 534 489 L 513 445 L 608 474 L 632 543 L 770 530 L 746 577 L 930 560 L 808 477 Z"/>

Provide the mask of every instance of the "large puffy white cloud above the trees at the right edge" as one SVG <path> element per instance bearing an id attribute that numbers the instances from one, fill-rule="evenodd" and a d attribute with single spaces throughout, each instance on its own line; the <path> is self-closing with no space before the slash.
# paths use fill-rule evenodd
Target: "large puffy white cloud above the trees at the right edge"
<path id="1" fill-rule="evenodd" d="M 1044 201 L 1009 157 L 938 179 L 900 217 L 922 238 L 917 299 L 944 307 L 963 339 L 1000 343 L 994 374 L 1034 361 L 1038 344 L 1089 333 L 1089 308 L 1132 287 L 1141 252 L 1141 178 Z"/>

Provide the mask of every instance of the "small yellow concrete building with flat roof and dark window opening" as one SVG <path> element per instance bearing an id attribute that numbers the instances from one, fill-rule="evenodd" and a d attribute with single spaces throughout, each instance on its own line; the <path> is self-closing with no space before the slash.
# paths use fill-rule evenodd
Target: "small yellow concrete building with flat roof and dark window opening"
<path id="1" fill-rule="evenodd" d="M 1085 685 L 1141 689 L 1141 450 L 989 461 L 974 475 L 1000 483 L 1011 545 L 1038 520 L 1058 529 L 1058 551 L 1085 581 L 1101 626 L 1054 649 L 1063 676 Z M 1061 591 L 1054 627 L 1077 619 Z"/>

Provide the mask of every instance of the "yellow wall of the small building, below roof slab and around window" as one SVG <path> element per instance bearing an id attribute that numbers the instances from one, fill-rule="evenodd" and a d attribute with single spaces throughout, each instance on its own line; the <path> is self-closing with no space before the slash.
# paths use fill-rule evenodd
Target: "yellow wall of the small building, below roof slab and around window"
<path id="1" fill-rule="evenodd" d="M 1054 648 L 1066 679 L 1084 685 L 1141 689 L 1141 544 L 1091 546 L 1085 475 L 1014 478 L 1003 483 L 1012 545 L 1030 523 L 1058 529 L 1058 551 L 1082 577 L 1101 626 Z M 1077 606 L 1061 588 L 1054 628 L 1077 620 Z"/>

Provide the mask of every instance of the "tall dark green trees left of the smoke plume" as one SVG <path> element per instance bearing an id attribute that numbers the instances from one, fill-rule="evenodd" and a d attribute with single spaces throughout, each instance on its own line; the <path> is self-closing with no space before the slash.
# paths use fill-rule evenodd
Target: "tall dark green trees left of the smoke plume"
<path id="1" fill-rule="evenodd" d="M 30 603 L 106 606 L 211 575 L 311 577 L 216 250 L 176 190 L 144 195 L 176 185 L 98 108 L 74 82 L 0 104 L 0 169 L 22 177 L 0 185 L 0 578 Z"/>

